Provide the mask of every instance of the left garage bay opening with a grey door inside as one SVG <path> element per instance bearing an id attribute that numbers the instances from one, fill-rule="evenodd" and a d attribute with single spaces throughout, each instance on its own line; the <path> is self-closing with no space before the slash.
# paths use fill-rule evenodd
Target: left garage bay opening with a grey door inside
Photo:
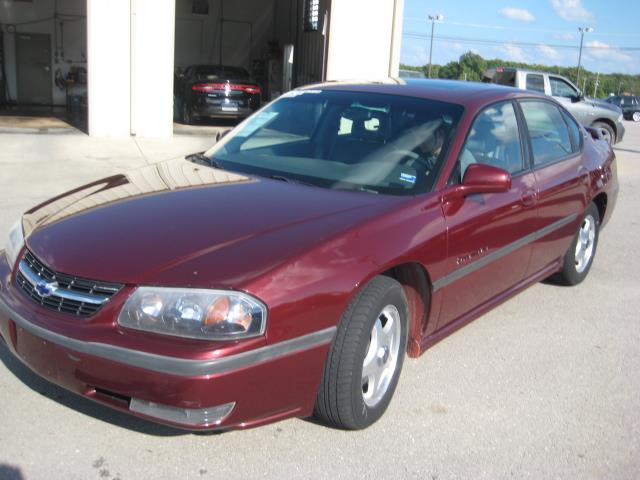
<path id="1" fill-rule="evenodd" d="M 86 0 L 0 3 L 0 132 L 87 131 Z"/>

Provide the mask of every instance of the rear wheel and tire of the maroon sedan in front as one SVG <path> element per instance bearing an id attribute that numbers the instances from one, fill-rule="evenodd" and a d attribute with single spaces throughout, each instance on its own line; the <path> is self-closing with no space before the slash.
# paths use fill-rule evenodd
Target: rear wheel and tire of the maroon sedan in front
<path id="1" fill-rule="evenodd" d="M 571 246 L 564 255 L 562 270 L 552 278 L 562 285 L 577 285 L 591 270 L 598 247 L 600 232 L 600 214 L 592 203 L 587 208 Z"/>

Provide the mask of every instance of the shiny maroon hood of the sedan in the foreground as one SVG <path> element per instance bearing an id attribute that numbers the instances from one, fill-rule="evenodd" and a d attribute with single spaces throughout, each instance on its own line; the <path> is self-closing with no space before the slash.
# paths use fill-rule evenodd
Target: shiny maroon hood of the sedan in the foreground
<path id="1" fill-rule="evenodd" d="M 241 288 L 399 201 L 174 160 L 56 197 L 27 212 L 23 226 L 28 248 L 59 272 Z"/>

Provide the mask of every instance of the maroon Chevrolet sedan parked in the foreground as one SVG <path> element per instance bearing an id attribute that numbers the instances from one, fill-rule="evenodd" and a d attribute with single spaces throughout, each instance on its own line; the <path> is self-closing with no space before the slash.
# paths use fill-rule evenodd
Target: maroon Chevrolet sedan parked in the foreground
<path id="1" fill-rule="evenodd" d="M 405 353 L 580 283 L 618 192 L 561 105 L 463 82 L 295 90 L 191 160 L 45 202 L 0 252 L 14 355 L 187 429 L 371 425 Z"/>

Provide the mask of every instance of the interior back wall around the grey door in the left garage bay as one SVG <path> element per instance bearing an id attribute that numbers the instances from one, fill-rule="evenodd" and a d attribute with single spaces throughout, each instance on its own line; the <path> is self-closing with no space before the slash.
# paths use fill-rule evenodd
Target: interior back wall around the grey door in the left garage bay
<path id="1" fill-rule="evenodd" d="M 86 0 L 59 0 L 54 21 L 55 0 L 33 2 L 0 2 L 0 23 L 16 26 L 16 33 L 44 33 L 51 35 L 51 85 L 54 105 L 65 105 L 65 90 L 55 85 L 56 70 L 66 77 L 71 66 L 87 67 Z M 65 16 L 62 16 L 66 14 Z M 71 17 L 73 15 L 74 17 Z M 76 17 L 77 16 L 77 17 Z M 60 22 L 63 23 L 62 29 Z M 15 35 L 4 32 L 7 56 L 7 83 L 10 100 L 17 99 Z M 56 36 L 58 41 L 56 42 Z M 57 48 L 56 48 L 57 45 Z"/>

